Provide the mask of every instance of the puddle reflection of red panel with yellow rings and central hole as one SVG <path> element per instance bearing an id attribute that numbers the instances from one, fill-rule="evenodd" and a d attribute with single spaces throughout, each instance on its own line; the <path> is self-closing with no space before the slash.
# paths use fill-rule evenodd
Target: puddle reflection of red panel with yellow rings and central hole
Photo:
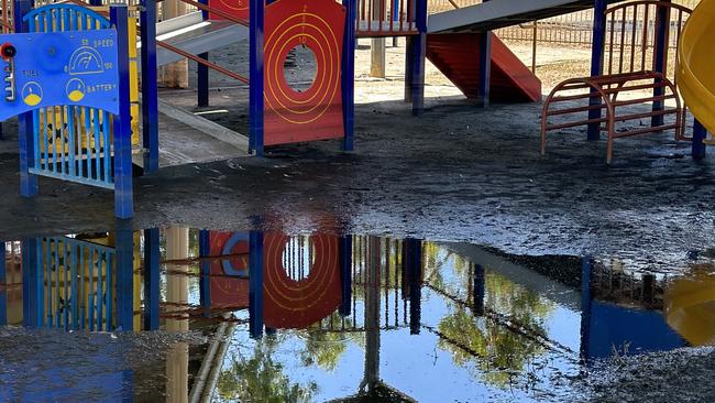
<path id="1" fill-rule="evenodd" d="M 293 280 L 283 265 L 289 238 L 266 233 L 264 248 L 264 323 L 275 328 L 304 328 L 327 317 L 340 305 L 340 259 L 338 238 L 311 236 L 315 263 L 307 277 Z M 307 259 L 307 258 L 306 258 Z"/>

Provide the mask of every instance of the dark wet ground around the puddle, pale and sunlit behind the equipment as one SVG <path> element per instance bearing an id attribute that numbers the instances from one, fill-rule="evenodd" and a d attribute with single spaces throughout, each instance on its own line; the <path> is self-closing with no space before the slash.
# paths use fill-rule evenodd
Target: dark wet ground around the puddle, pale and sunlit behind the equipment
<path id="1" fill-rule="evenodd" d="M 219 62 L 245 73 L 245 58 L 237 57 L 243 51 L 228 48 Z M 355 152 L 342 153 L 338 141 L 294 144 L 271 149 L 265 159 L 139 177 L 134 226 L 280 227 L 289 233 L 321 227 L 471 241 L 510 253 L 591 253 L 634 271 L 668 274 L 715 247 L 715 161 L 691 160 L 689 143 L 674 142 L 670 133 L 619 140 L 607 166 L 605 142 L 587 142 L 576 128 L 550 138 L 541 156 L 540 105 L 476 109 L 428 65 L 427 110 L 413 117 L 402 101 L 404 48 L 388 48 L 386 79 L 367 77 L 367 54 L 361 50 L 358 56 Z M 542 57 L 543 66 L 572 64 L 564 55 Z M 544 78 L 544 89 L 554 80 Z M 217 76 L 211 84 L 211 108 L 228 112 L 207 117 L 246 132 L 248 88 Z M 195 101 L 191 90 L 163 97 L 186 108 Z M 40 196 L 19 197 L 14 127 L 7 132 L 9 140 L 0 142 L 0 239 L 74 232 L 112 220 L 107 190 L 43 178 Z M 649 401 L 672 401 L 682 396 L 680 388 L 692 401 L 712 401 L 712 388 L 702 381 L 712 378 L 712 352 L 690 350 L 645 356 L 635 359 L 632 371 L 654 366 L 660 372 L 635 380 L 609 366 L 614 378 L 596 378 L 604 382 L 592 385 L 594 400 L 612 400 L 615 390 L 624 393 L 613 394 L 622 396 L 615 401 L 639 401 L 634 391 L 648 389 Z M 703 373 L 692 375 L 702 388 L 675 382 L 689 368 L 703 371 L 689 372 Z"/>

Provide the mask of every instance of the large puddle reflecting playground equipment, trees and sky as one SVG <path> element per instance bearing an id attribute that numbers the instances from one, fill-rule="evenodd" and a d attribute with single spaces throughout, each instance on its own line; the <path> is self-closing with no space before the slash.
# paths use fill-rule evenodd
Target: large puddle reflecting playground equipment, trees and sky
<path id="1" fill-rule="evenodd" d="M 6 242 L 0 401 L 574 400 L 715 344 L 715 276 L 468 243 L 186 228 Z"/>

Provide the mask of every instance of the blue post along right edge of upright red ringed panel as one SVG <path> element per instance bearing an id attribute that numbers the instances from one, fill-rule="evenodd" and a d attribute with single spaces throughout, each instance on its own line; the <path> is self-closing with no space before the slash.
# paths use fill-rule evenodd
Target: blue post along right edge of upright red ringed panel
<path id="1" fill-rule="evenodd" d="M 355 121 L 355 19 L 358 0 L 343 0 L 345 33 L 342 45 L 342 121 L 345 137 L 343 151 L 353 151 Z"/>

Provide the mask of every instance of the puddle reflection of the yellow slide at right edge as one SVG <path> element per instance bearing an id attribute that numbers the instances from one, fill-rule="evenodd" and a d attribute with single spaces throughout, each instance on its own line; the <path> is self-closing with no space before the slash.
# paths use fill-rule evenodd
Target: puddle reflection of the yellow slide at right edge
<path id="1" fill-rule="evenodd" d="M 713 0 L 707 0 L 714 2 Z M 715 275 L 673 281 L 664 295 L 666 320 L 693 346 L 715 346 Z"/>

